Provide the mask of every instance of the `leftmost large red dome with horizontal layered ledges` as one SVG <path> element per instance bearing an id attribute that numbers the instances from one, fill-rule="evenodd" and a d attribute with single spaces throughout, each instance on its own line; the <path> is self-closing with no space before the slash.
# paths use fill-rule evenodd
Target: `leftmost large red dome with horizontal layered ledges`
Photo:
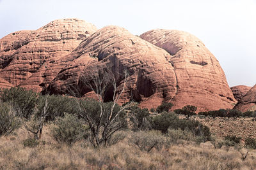
<path id="1" fill-rule="evenodd" d="M 54 20 L 36 31 L 8 34 L 0 39 L 0 77 L 19 85 L 47 60 L 67 55 L 96 30 L 93 24 L 72 18 Z M 36 81 L 42 81 L 40 79 Z"/>

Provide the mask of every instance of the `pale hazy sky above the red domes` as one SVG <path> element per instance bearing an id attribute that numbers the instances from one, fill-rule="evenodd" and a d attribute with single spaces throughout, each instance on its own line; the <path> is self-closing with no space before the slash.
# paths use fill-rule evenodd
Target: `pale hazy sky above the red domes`
<path id="1" fill-rule="evenodd" d="M 0 0 L 0 38 L 60 18 L 80 18 L 98 29 L 119 25 L 137 35 L 187 31 L 219 60 L 230 87 L 256 83 L 256 0 Z"/>

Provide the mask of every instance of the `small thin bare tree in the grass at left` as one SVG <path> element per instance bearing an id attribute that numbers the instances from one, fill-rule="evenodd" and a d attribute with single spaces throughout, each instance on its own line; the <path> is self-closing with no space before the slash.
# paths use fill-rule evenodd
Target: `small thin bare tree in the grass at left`
<path id="1" fill-rule="evenodd" d="M 31 117 L 30 122 L 24 123 L 24 127 L 27 129 L 28 132 L 33 134 L 35 140 L 38 140 L 42 137 L 44 122 L 45 122 L 45 118 L 48 115 L 47 110 L 49 108 L 47 99 L 48 99 L 48 96 L 45 97 L 44 109 L 42 110 L 42 112 L 39 113 L 39 115 L 34 114 Z"/>

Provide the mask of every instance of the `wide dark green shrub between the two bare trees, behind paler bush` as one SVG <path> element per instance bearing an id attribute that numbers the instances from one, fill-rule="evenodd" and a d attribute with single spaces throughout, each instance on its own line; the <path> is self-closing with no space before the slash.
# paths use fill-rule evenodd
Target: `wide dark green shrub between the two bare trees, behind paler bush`
<path id="1" fill-rule="evenodd" d="M 78 111 L 77 103 L 74 98 L 68 96 L 40 96 L 37 115 L 44 111 L 45 98 L 47 97 L 48 109 L 45 121 L 54 121 L 56 117 L 63 117 L 64 113 L 76 114 Z"/>

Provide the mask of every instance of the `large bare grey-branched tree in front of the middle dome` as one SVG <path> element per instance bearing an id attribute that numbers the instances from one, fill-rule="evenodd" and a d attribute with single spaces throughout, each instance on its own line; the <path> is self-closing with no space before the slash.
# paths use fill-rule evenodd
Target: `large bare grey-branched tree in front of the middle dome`
<path id="1" fill-rule="evenodd" d="M 90 111 L 88 105 L 84 104 L 84 100 L 77 99 L 79 116 L 89 125 L 91 131 L 90 142 L 95 147 L 99 145 L 106 146 L 111 136 L 116 131 L 124 128 L 127 123 L 124 110 L 130 104 L 119 106 L 118 101 L 125 90 L 129 73 L 124 71 L 124 74 L 118 76 L 122 76 L 122 85 L 119 87 L 119 82 L 117 82 L 115 74 L 110 69 L 100 70 L 96 74 L 90 73 L 82 77 L 83 84 L 97 94 L 97 100 L 99 101 L 99 109 L 95 113 L 90 113 L 92 111 Z M 113 90 L 113 93 L 111 93 L 113 94 L 112 102 L 104 103 L 109 90 Z"/>

